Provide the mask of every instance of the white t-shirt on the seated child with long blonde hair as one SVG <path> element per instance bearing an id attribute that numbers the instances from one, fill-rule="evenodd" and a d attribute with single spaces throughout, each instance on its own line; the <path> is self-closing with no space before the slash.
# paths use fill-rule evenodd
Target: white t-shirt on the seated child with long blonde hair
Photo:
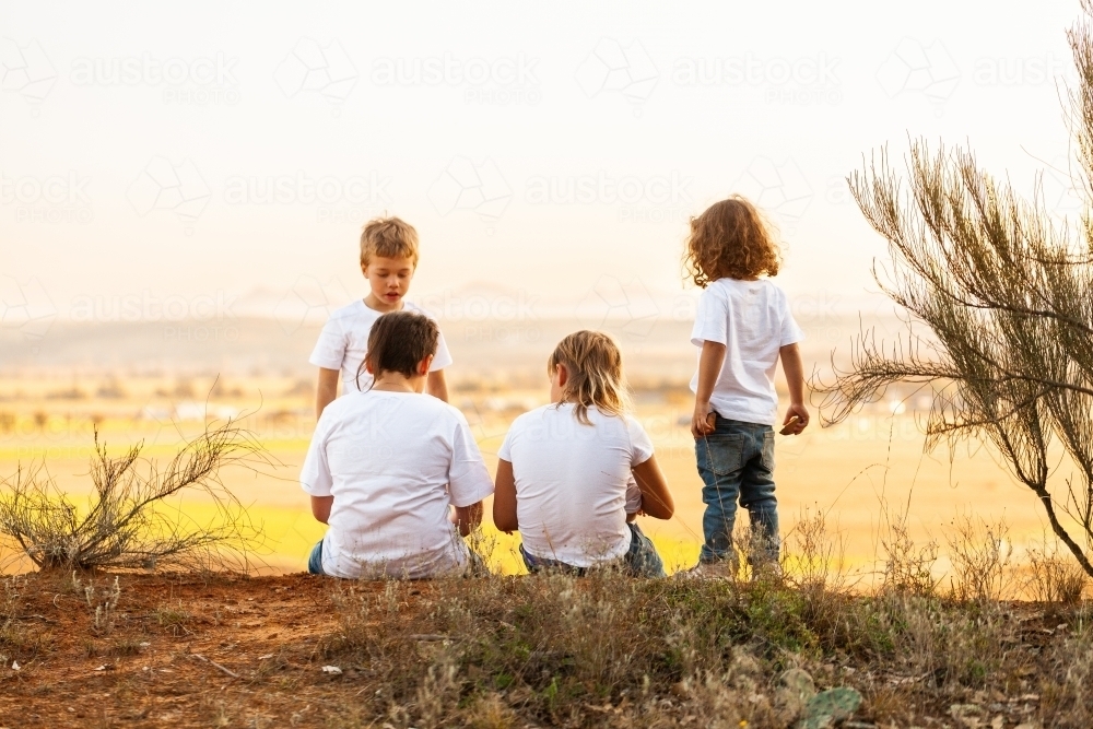
<path id="1" fill-rule="evenodd" d="M 497 454 L 513 465 L 524 549 L 575 567 L 630 549 L 626 513 L 640 505 L 632 469 L 653 456 L 633 418 L 589 408 L 588 419 L 581 424 L 572 403 L 543 405 L 516 419 Z"/>

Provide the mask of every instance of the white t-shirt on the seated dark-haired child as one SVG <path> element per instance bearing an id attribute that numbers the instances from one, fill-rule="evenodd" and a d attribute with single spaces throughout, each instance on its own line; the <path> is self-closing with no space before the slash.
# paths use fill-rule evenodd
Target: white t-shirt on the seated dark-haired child
<path id="1" fill-rule="evenodd" d="M 470 506 L 493 481 L 462 414 L 427 395 L 350 392 L 322 411 L 299 475 L 333 496 L 322 572 L 432 577 L 459 571 L 467 546 L 448 506 Z"/>

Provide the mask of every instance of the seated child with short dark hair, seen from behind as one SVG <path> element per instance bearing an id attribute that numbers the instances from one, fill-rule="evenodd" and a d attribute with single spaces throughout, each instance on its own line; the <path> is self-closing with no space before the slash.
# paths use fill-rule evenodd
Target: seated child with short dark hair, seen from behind
<path id="1" fill-rule="evenodd" d="M 299 480 L 329 529 L 308 572 L 420 579 L 469 569 L 462 537 L 481 524 L 493 482 L 463 415 L 423 396 L 439 336 L 422 314 L 380 316 L 364 360 L 371 387 L 319 418 Z"/>

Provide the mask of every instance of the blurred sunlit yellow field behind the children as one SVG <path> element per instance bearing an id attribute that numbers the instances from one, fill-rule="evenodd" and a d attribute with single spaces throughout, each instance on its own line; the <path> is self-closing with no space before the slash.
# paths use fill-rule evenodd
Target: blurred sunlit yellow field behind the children
<path id="1" fill-rule="evenodd" d="M 223 474 L 225 484 L 247 506 L 251 519 L 262 525 L 263 544 L 255 555 L 261 568 L 303 569 L 324 529 L 312 518 L 296 482 L 314 426 L 310 396 L 306 388 L 278 378 L 247 385 L 246 390 L 224 387 L 221 396 L 210 400 L 208 410 L 226 416 L 232 410 L 254 410 L 261 403 L 257 414 L 245 418 L 244 423 L 280 466 L 261 474 L 231 470 Z M 178 421 L 177 414 L 204 403 L 191 402 L 187 410 L 156 380 L 127 381 L 124 396 L 111 398 L 70 393 L 63 399 L 57 397 L 57 387 L 56 381 L 22 380 L 17 397 L 8 393 L 8 401 L 0 401 L 0 474 L 13 473 L 20 463 L 25 468 L 44 459 L 58 487 L 83 494 L 90 489 L 87 460 L 96 423 L 101 439 L 113 452 L 143 440 L 145 455 L 157 459 L 172 455 L 184 437 L 201 428 L 200 420 Z M 196 390 L 208 391 L 208 387 Z M 491 470 L 507 425 L 519 413 L 514 403 L 530 407 L 543 396 L 537 391 L 454 395 L 453 401 L 471 422 Z M 168 412 L 172 407 L 174 415 Z M 642 527 L 658 544 L 670 569 L 693 564 L 702 541 L 701 481 L 693 440 L 684 424 L 689 414 L 690 403 L 678 390 L 638 399 L 637 415 L 653 436 L 678 505 L 672 520 L 643 519 Z M 821 509 L 845 539 L 848 563 L 868 571 L 879 553 L 885 499 L 895 510 L 907 506 L 916 539 L 935 539 L 942 546 L 945 526 L 959 514 L 975 514 L 988 521 L 1004 518 L 1018 548 L 1044 533 L 1046 520 L 1032 494 L 1012 483 L 985 450 L 963 452 L 950 462 L 948 452 L 924 456 L 922 440 L 913 415 L 884 413 L 860 415 L 828 430 L 813 426 L 798 437 L 778 436 L 776 479 L 783 534 L 790 531 L 802 509 Z M 199 521 L 213 515 L 200 495 L 185 496 L 172 507 Z M 743 512 L 740 521 L 747 521 Z M 519 571 L 517 539 L 496 534 L 489 525 L 486 537 L 495 540 L 497 564 L 506 572 Z M 941 552 L 939 567 L 943 568 L 944 549 Z M 0 558 L 8 569 L 20 567 L 11 554 Z"/>

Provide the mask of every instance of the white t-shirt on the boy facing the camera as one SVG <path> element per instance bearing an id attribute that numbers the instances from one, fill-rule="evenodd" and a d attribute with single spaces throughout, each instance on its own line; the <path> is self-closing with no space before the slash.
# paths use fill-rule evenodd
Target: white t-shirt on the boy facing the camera
<path id="1" fill-rule="evenodd" d="M 411 304 L 402 302 L 403 311 L 416 311 L 428 314 Z M 340 369 L 342 379 L 342 395 L 354 392 L 357 389 L 367 390 L 372 384 L 372 375 L 367 369 L 361 369 L 361 387 L 356 386 L 356 372 L 364 362 L 364 355 L 368 353 L 368 333 L 376 319 L 383 316 L 381 311 L 368 308 L 364 301 L 356 299 L 348 306 L 334 309 L 330 318 L 322 326 L 319 333 L 319 341 L 315 343 L 312 356 L 308 360 L 317 367 L 327 369 Z M 432 318 L 432 317 L 430 317 Z M 430 372 L 444 369 L 451 364 L 451 354 L 448 353 L 448 345 L 440 334 L 436 342 L 436 354 L 433 356 L 433 364 Z"/>

